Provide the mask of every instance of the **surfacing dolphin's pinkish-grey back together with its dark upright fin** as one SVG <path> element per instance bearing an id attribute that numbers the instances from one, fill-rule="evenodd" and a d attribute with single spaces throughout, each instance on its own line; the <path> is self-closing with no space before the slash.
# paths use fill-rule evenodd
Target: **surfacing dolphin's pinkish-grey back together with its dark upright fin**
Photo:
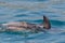
<path id="1" fill-rule="evenodd" d="M 23 31 L 23 30 L 30 30 L 30 31 L 44 31 L 51 29 L 51 24 L 48 17 L 43 16 L 42 24 L 29 24 L 26 22 L 12 22 L 6 24 L 0 25 L 0 31 Z"/>

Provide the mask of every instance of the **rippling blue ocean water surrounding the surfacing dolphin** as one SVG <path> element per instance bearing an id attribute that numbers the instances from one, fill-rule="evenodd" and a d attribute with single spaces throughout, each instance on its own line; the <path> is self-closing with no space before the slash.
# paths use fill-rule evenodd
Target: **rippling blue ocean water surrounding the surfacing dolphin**
<path id="1" fill-rule="evenodd" d="M 41 24 L 49 17 L 54 31 L 29 33 L 0 33 L 0 43 L 65 43 L 65 0 L 0 0 L 0 24 L 28 22 Z"/>

